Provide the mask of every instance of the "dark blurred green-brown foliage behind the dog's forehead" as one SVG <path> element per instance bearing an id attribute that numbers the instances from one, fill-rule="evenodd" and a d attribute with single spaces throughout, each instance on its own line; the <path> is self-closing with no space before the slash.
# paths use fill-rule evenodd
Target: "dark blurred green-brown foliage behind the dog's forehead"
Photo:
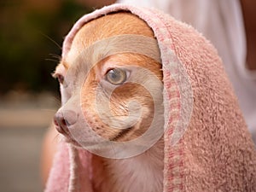
<path id="1" fill-rule="evenodd" d="M 0 95 L 9 90 L 57 90 L 50 73 L 60 59 L 63 38 L 90 12 L 73 0 L 60 0 L 54 9 L 33 8 L 31 2 L 0 0 Z"/>

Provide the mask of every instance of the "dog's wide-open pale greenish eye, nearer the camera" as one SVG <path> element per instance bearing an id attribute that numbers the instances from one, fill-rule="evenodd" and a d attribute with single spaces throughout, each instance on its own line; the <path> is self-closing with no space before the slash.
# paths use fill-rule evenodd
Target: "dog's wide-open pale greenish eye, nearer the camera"
<path id="1" fill-rule="evenodd" d="M 124 69 L 113 68 L 106 74 L 106 80 L 111 84 L 123 84 L 127 79 L 127 74 Z"/>

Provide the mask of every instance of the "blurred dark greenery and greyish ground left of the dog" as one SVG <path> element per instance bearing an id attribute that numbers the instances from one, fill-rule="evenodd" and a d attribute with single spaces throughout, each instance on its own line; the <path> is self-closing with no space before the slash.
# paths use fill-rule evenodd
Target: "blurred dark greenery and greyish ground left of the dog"
<path id="1" fill-rule="evenodd" d="M 58 108 L 51 77 L 63 38 L 92 9 L 74 0 L 0 0 L 0 190 L 37 192 L 44 134 Z"/>

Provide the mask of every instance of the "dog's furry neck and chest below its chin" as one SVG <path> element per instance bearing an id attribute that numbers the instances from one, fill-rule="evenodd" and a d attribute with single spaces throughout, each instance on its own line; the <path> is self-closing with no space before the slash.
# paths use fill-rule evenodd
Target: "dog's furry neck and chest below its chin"
<path id="1" fill-rule="evenodd" d="M 106 159 L 94 155 L 92 167 L 92 183 L 96 192 L 162 191 L 163 138 L 143 154 L 123 160 Z"/>

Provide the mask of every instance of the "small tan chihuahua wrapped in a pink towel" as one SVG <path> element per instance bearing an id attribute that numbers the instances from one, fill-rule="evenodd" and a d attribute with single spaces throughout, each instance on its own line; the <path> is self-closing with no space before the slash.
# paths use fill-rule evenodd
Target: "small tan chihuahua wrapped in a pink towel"
<path id="1" fill-rule="evenodd" d="M 103 50 L 96 50 L 96 44 L 105 39 L 129 38 L 130 35 L 154 39 L 151 28 L 130 13 L 119 12 L 90 20 L 76 33 L 67 55 L 56 67 L 54 77 L 61 84 L 62 107 L 55 114 L 55 128 L 67 143 L 77 148 L 91 147 L 88 139 L 93 139 L 86 136 L 88 131 L 113 145 L 137 141 L 153 122 L 163 122 L 160 58 L 156 61 L 136 51 L 108 54 L 108 47 L 114 47 L 110 43 Z M 140 49 L 150 49 L 137 44 Z M 160 55 L 158 49 L 154 52 Z M 90 64 L 88 57 L 95 62 L 94 65 Z M 154 96 L 151 90 L 154 90 Z M 154 115 L 156 110 L 158 114 Z M 80 117 L 86 124 L 81 124 Z M 156 129 L 162 130 L 160 126 L 162 124 L 156 124 Z M 138 148 L 140 144 L 145 145 L 138 142 Z M 163 137 L 143 149 L 142 153 L 129 155 L 126 150 L 121 151 L 127 154 L 122 158 L 101 155 L 110 151 L 105 147 L 104 144 L 98 147 L 92 156 L 95 191 L 163 191 Z"/>

